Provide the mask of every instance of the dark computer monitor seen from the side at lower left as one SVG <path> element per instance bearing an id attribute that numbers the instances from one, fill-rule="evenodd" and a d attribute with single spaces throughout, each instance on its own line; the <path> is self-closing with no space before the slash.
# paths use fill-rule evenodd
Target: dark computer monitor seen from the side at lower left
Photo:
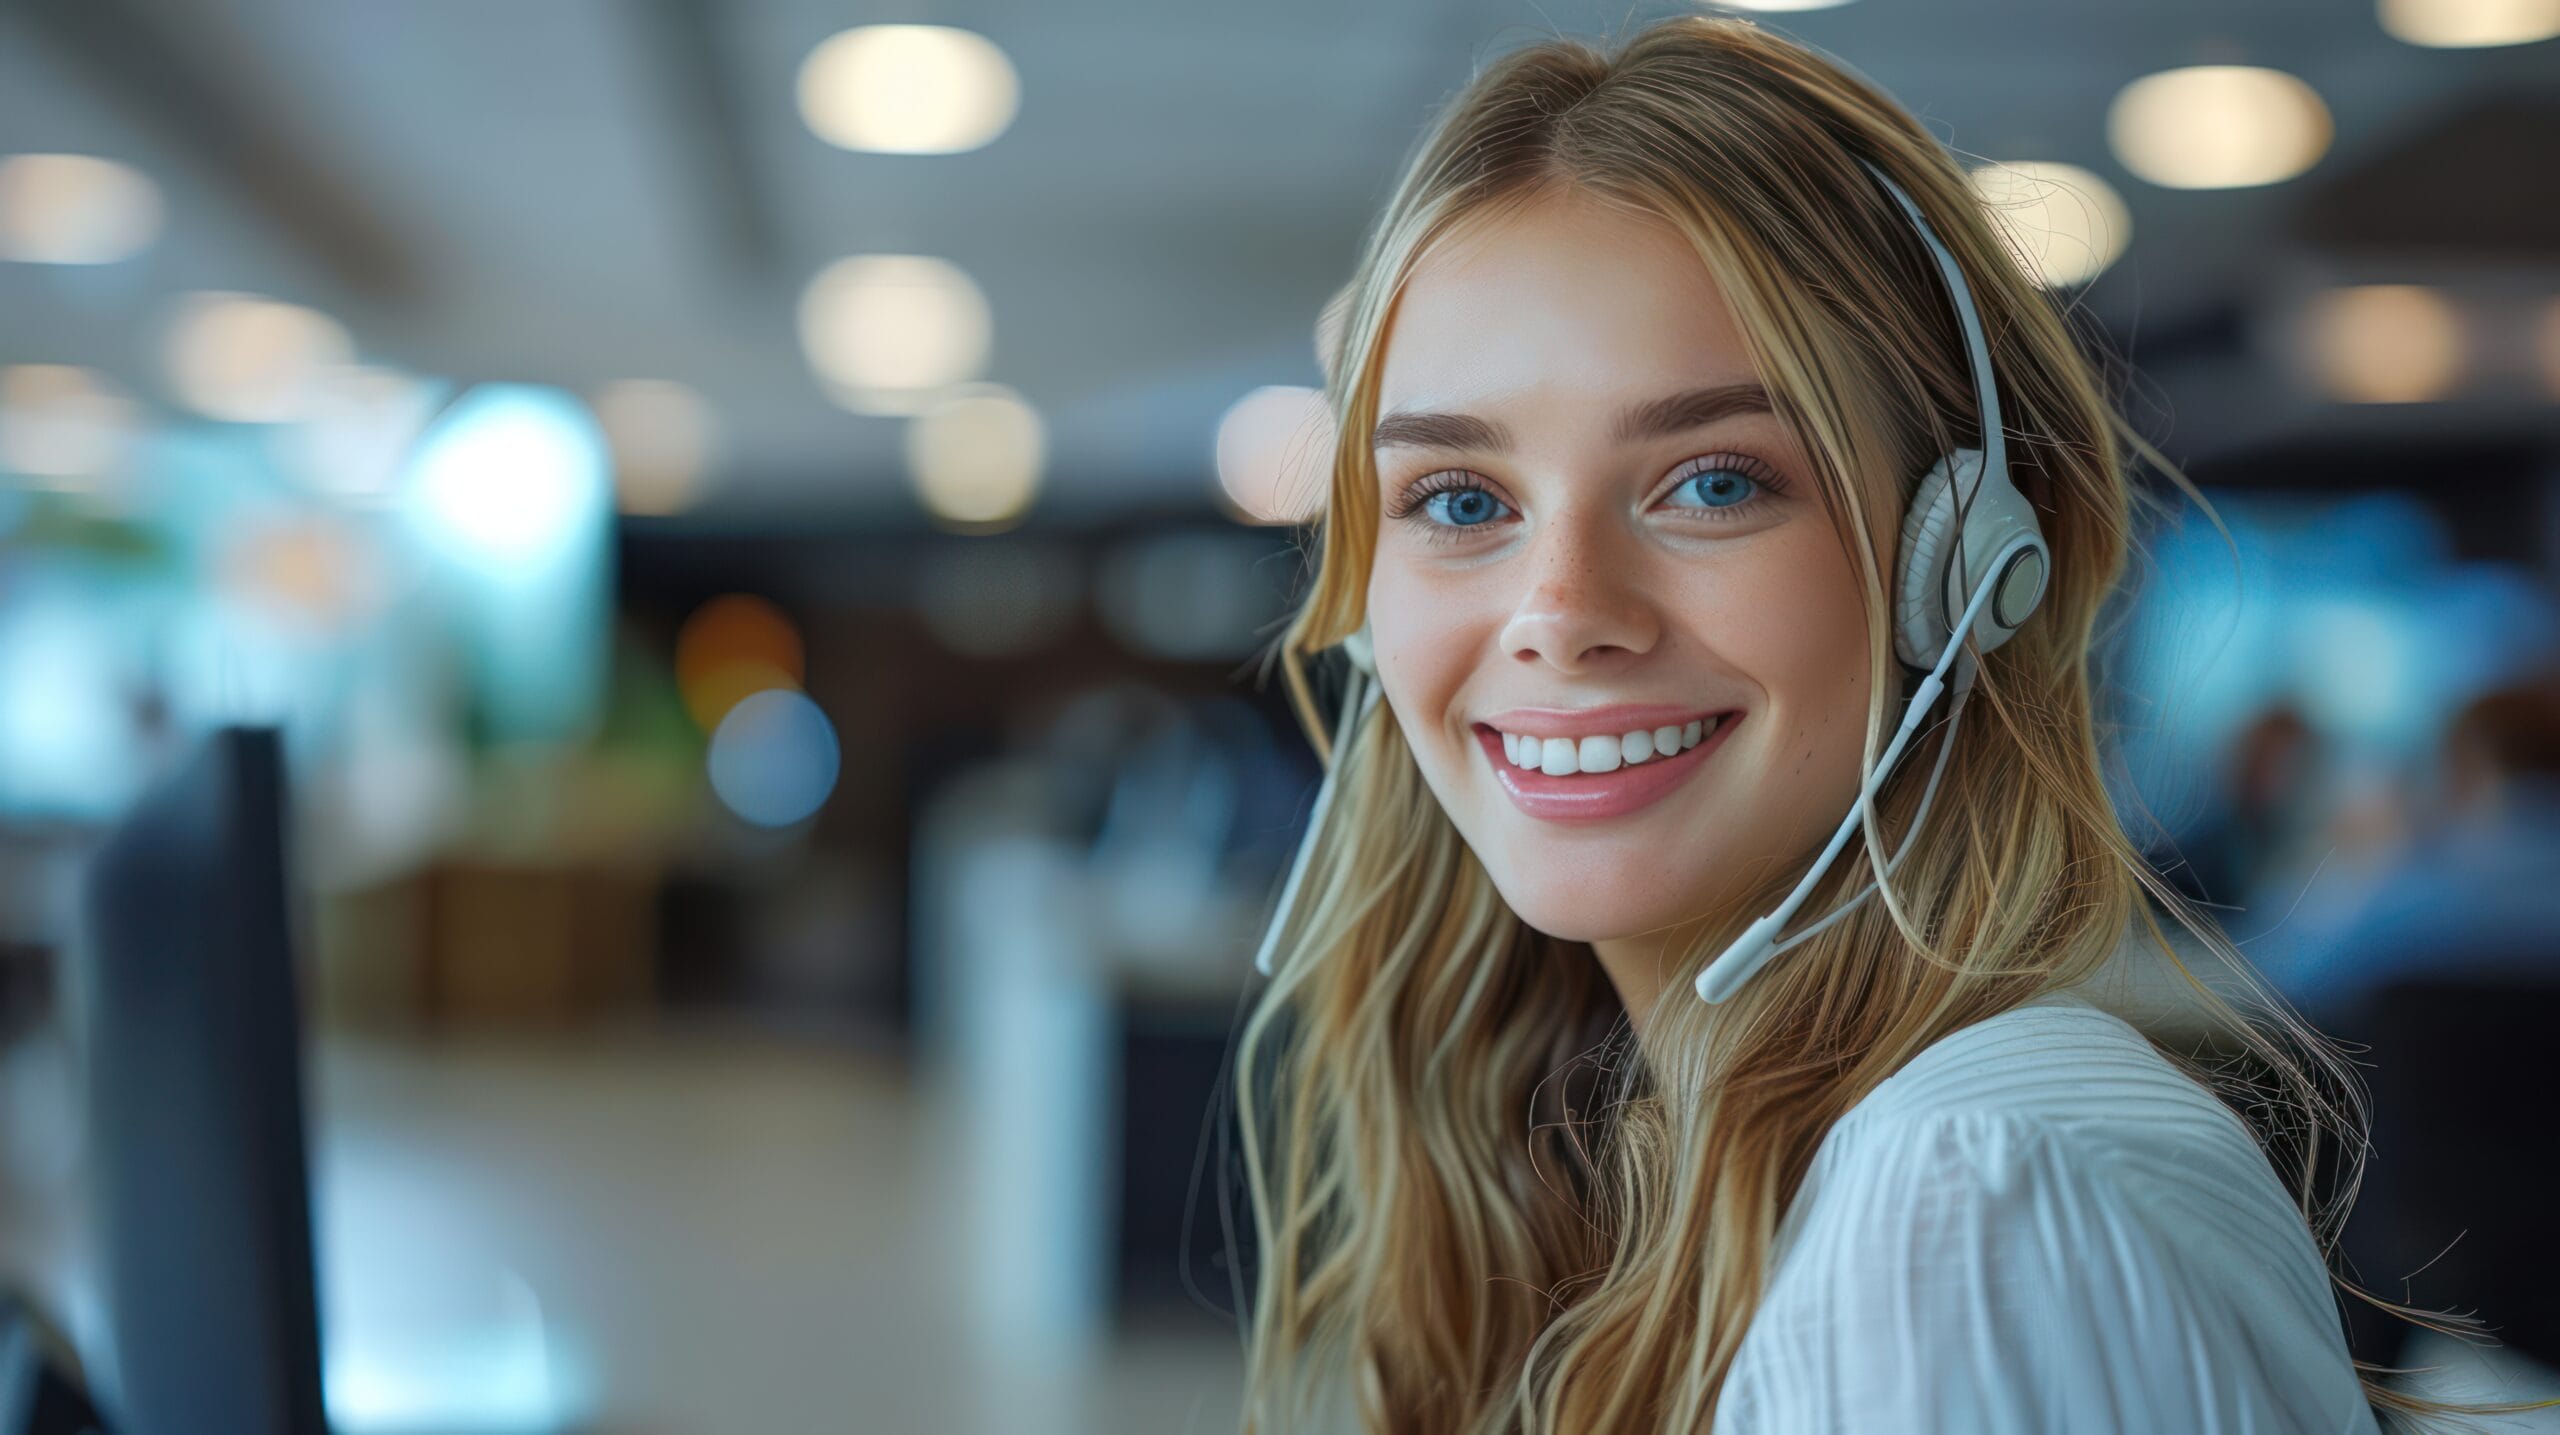
<path id="1" fill-rule="evenodd" d="M 120 1435 L 325 1435 L 274 729 L 223 729 L 87 872 L 90 1154 Z"/>

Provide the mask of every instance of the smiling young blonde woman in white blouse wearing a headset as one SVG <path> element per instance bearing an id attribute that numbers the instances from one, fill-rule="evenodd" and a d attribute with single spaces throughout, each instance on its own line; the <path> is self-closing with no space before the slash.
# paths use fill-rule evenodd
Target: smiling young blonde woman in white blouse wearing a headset
<path id="1" fill-rule="evenodd" d="M 1247 1427 L 2373 1430 L 2330 1218 L 2074 992 L 2237 954 L 2099 783 L 2150 450 L 1938 143 L 1748 23 L 1541 43 L 1336 317 Z M 2319 1044 L 2199 1003 L 2332 1189 Z"/>

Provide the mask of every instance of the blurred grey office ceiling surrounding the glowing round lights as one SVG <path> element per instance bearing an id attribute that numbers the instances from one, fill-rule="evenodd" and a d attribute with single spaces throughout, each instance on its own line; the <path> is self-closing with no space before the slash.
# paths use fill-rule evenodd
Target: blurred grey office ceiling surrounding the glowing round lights
<path id="1" fill-rule="evenodd" d="M 256 289 L 338 315 L 369 358 L 422 373 L 701 389 L 724 450 L 699 522 L 909 519 L 904 422 L 824 402 L 794 304 L 845 253 L 932 253 L 988 294 L 988 379 L 1050 422 L 1044 519 L 1201 509 L 1226 404 L 1316 381 L 1316 310 L 1434 105 L 1513 43 L 1672 10 L 0 0 L 0 153 L 120 156 L 169 200 L 169 233 L 136 261 L 0 263 L 0 361 L 92 363 L 164 399 L 169 299 Z M 1021 74 L 1014 125 L 957 156 L 814 138 L 799 61 L 873 20 L 991 36 Z M 1764 20 L 1848 59 L 1971 156 L 2081 164 L 2125 194 L 2132 248 L 2084 302 L 2158 381 L 2166 417 L 2145 427 L 2173 417 L 2173 453 L 2337 414 L 2245 361 L 2263 297 L 2304 269 L 2363 276 L 2401 253 L 2460 269 L 2478 233 L 2499 248 L 2483 261 L 2560 292 L 2560 41 L 2414 49 L 2340 0 L 1861 0 Z M 2127 174 L 2104 143 L 2112 95 L 2207 61 L 2307 79 L 2337 123 L 2319 166 L 2220 192 Z M 2432 200 L 2412 205 L 2419 189 Z M 2409 217 L 2447 194 L 2514 220 Z M 2401 407 L 2350 422 L 2442 420 Z"/>

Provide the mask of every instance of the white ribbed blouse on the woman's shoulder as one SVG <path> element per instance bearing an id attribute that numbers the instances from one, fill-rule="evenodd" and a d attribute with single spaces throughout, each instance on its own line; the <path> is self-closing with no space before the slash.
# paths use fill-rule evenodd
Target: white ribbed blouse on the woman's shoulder
<path id="1" fill-rule="evenodd" d="M 2074 995 L 1851 1108 L 1769 1269 L 1715 1435 L 2378 1430 L 2258 1143 Z"/>

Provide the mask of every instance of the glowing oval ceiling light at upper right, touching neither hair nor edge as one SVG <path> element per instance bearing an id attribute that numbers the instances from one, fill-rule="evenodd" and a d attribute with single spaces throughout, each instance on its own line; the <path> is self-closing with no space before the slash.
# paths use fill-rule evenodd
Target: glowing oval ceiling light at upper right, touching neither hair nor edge
<path id="1" fill-rule="evenodd" d="M 2163 69 L 2117 92 L 2107 143 L 2125 169 L 2171 189 L 2276 184 L 2327 153 L 2330 107 L 2281 69 Z"/>

